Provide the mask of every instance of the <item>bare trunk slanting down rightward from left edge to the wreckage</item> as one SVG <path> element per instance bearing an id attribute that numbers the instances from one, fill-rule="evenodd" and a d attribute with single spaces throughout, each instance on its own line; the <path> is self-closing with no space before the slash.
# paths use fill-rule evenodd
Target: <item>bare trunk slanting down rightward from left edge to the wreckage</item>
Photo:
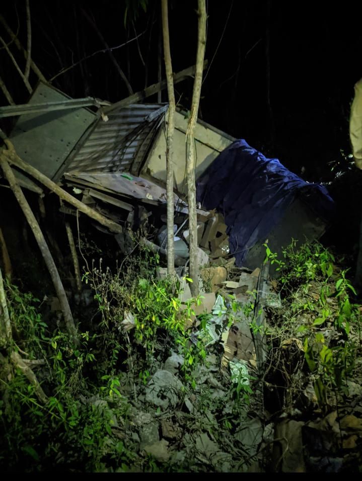
<path id="1" fill-rule="evenodd" d="M 53 191 L 61 199 L 65 200 L 65 202 L 73 205 L 78 210 L 88 215 L 92 219 L 96 220 L 100 224 L 104 225 L 112 232 L 115 232 L 117 234 L 123 232 L 122 226 L 118 225 L 116 222 L 113 222 L 113 220 L 107 219 L 107 217 L 100 214 L 99 212 L 96 212 L 94 209 L 91 209 L 86 204 L 73 197 L 73 195 L 68 194 L 65 190 L 55 184 L 55 182 L 51 181 L 48 177 L 39 172 L 37 169 L 24 162 L 15 152 L 14 146 L 9 139 L 5 139 L 4 142 L 6 143 L 8 150 L 3 149 L 0 151 L 0 153 L 5 155 L 8 162 L 14 164 L 22 171 L 31 175 L 34 179 L 44 184 L 48 189 Z"/>

